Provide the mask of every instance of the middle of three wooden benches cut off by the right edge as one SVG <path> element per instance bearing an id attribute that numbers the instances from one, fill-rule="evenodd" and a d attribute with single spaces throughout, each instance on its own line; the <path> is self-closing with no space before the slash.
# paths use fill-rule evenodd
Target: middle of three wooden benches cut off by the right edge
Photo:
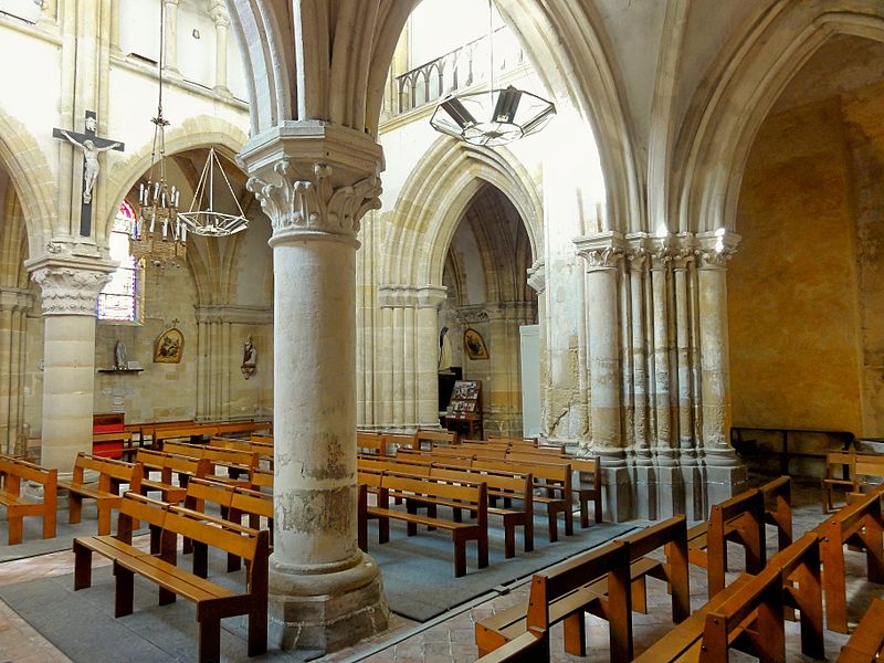
<path id="1" fill-rule="evenodd" d="M 884 583 L 884 550 L 882 550 L 881 497 L 884 486 L 830 515 L 814 532 L 821 543 L 823 588 L 825 591 L 825 625 L 830 631 L 848 632 L 848 600 L 844 568 L 844 546 L 865 550 L 867 577 L 871 582 Z"/>

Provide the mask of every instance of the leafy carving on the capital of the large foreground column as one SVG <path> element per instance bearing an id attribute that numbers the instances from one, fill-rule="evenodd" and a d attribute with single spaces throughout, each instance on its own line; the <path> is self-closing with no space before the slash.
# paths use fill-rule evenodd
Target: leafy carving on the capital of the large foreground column
<path id="1" fill-rule="evenodd" d="M 250 177 L 246 188 L 270 217 L 274 233 L 315 231 L 356 236 L 361 218 L 380 208 L 381 186 L 377 176 L 334 187 L 333 168 L 327 164 L 314 164 L 314 177 L 309 180 L 296 179 L 288 159 L 276 161 L 273 170 L 280 182 Z"/>

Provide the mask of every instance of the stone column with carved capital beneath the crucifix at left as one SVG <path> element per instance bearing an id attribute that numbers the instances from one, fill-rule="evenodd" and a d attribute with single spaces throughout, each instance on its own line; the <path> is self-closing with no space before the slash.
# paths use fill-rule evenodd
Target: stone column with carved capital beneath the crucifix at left
<path id="1" fill-rule="evenodd" d="M 92 452 L 95 309 L 110 271 L 48 261 L 31 267 L 45 322 L 41 464 L 65 474 L 77 452 Z"/>

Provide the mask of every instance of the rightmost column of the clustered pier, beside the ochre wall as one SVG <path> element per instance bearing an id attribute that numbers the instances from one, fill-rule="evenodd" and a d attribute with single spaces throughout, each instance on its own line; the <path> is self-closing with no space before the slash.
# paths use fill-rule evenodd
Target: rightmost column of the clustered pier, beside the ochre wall
<path id="1" fill-rule="evenodd" d="M 727 347 L 727 269 L 739 236 L 722 231 L 699 240 L 699 358 L 703 398 L 703 445 L 709 504 L 740 493 L 746 466 L 730 446 L 730 379 Z"/>

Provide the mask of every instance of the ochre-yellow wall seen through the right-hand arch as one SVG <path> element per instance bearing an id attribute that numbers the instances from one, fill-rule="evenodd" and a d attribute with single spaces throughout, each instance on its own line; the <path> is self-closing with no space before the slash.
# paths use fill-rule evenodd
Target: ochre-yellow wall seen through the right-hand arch
<path id="1" fill-rule="evenodd" d="M 857 244 L 857 192 L 861 235 L 881 198 L 870 204 L 871 182 L 853 180 L 853 161 L 871 155 L 856 152 L 862 129 L 844 119 L 840 97 L 772 115 L 750 154 L 728 283 L 735 425 L 870 430 L 862 318 L 877 296 L 869 276 L 881 267 L 872 245 L 862 236 Z"/>

